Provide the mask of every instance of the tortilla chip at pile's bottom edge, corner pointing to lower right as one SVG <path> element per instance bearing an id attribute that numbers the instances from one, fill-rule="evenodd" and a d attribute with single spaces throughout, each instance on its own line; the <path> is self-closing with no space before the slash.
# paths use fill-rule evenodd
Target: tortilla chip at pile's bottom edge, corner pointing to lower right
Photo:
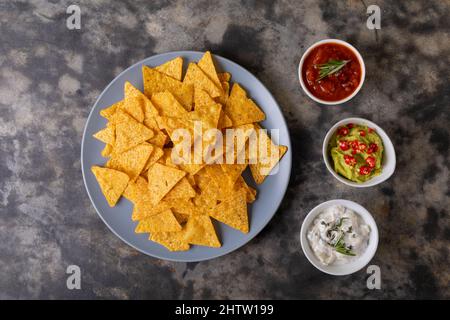
<path id="1" fill-rule="evenodd" d="M 190 244 L 219 248 L 216 230 L 207 215 L 192 215 L 186 223 L 185 239 Z"/>

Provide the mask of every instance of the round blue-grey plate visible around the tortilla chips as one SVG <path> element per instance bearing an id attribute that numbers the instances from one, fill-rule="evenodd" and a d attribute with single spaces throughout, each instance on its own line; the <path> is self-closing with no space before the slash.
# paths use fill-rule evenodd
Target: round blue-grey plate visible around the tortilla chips
<path id="1" fill-rule="evenodd" d="M 212 219 L 219 239 L 222 242 L 222 247 L 191 246 L 191 249 L 188 251 L 171 252 L 158 243 L 148 240 L 148 234 L 136 234 L 134 232 L 137 222 L 131 220 L 133 208 L 131 202 L 122 197 L 114 208 L 108 206 L 90 170 L 91 166 L 103 166 L 106 162 L 106 159 L 100 155 L 104 144 L 92 137 L 95 132 L 104 128 L 107 122 L 106 119 L 100 116 L 100 110 L 123 99 L 125 81 L 129 81 L 138 89 L 143 90 L 141 72 L 143 65 L 154 67 L 181 56 L 184 59 L 184 66 L 186 67 L 189 62 L 197 62 L 202 55 L 202 52 L 195 51 L 164 53 L 144 59 L 123 71 L 105 88 L 95 102 L 87 119 L 81 143 L 81 169 L 84 184 L 99 216 L 111 231 L 127 244 L 145 254 L 164 260 L 184 262 L 208 260 L 227 254 L 246 244 L 264 228 L 277 211 L 286 192 L 291 174 L 291 141 L 289 139 L 286 121 L 275 99 L 264 85 L 250 72 L 228 59 L 215 55 L 214 58 L 218 70 L 230 72 L 232 74 L 231 82 L 241 84 L 246 89 L 249 97 L 266 113 L 267 119 L 262 122 L 264 128 L 279 129 L 279 141 L 274 139 L 275 142 L 288 147 L 288 151 L 279 163 L 278 172 L 267 177 L 263 184 L 256 187 L 258 190 L 257 199 L 248 208 L 250 231 L 247 234 L 243 234 Z M 248 169 L 244 173 L 244 178 L 249 185 L 255 187 L 248 173 Z"/>

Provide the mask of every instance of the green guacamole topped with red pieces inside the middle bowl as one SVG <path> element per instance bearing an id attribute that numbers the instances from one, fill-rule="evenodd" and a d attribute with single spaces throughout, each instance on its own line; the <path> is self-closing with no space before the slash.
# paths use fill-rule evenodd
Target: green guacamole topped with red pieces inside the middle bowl
<path id="1" fill-rule="evenodd" d="M 328 145 L 334 171 L 354 182 L 381 173 L 383 141 L 374 129 L 349 123 L 339 127 Z"/>

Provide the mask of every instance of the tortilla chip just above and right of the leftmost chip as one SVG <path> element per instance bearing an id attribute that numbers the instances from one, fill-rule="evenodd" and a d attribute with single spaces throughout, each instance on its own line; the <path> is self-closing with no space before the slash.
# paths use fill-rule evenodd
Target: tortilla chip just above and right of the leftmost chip
<path id="1" fill-rule="evenodd" d="M 106 167 L 125 172 L 131 181 L 135 181 L 144 169 L 152 151 L 151 144 L 137 145 L 120 154 L 114 154 L 106 163 Z"/>

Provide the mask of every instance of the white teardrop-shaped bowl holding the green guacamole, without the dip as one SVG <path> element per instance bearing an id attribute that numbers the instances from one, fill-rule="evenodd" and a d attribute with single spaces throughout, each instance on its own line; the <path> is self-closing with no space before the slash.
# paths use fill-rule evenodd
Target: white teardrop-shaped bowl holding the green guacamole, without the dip
<path id="1" fill-rule="evenodd" d="M 372 179 L 357 183 L 351 180 L 348 180 L 347 178 L 344 178 L 340 174 L 338 174 L 333 169 L 333 163 L 330 159 L 330 156 L 328 155 L 328 143 L 330 142 L 331 137 L 333 136 L 333 133 L 339 128 L 340 126 L 346 125 L 348 123 L 354 123 L 359 125 L 368 126 L 372 129 L 375 129 L 377 134 L 380 136 L 381 140 L 383 141 L 384 146 L 384 152 L 383 152 L 383 161 L 381 166 L 381 174 L 373 177 Z M 325 136 L 325 139 L 323 140 L 322 145 L 322 154 L 323 154 L 323 160 L 325 161 L 325 165 L 327 166 L 328 171 L 338 179 L 340 182 L 345 183 L 348 186 L 357 187 L 357 188 L 364 188 L 364 187 L 372 187 L 374 185 L 377 185 L 379 183 L 382 183 L 383 181 L 386 181 L 389 179 L 390 176 L 395 171 L 395 164 L 396 164 L 396 157 L 395 157 L 395 150 L 394 145 L 392 144 L 391 139 L 389 139 L 386 132 L 384 132 L 383 129 L 381 129 L 379 126 L 377 126 L 372 121 L 363 119 L 363 118 L 347 118 L 344 120 L 339 121 L 334 126 L 331 127 L 331 129 L 327 132 L 327 135 Z"/>

